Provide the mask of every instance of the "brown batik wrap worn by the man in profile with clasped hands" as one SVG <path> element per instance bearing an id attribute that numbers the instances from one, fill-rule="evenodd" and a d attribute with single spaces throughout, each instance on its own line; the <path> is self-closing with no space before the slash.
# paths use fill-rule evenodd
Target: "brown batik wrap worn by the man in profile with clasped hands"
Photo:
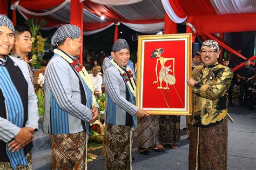
<path id="1" fill-rule="evenodd" d="M 87 134 L 50 134 L 52 169 L 87 169 Z"/>

